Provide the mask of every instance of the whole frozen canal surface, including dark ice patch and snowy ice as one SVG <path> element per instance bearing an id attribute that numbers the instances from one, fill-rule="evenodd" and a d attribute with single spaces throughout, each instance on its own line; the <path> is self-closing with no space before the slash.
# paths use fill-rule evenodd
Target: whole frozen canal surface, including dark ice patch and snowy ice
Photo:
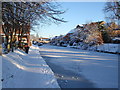
<path id="1" fill-rule="evenodd" d="M 118 87 L 118 55 L 48 44 L 40 53 L 61 88 Z"/>

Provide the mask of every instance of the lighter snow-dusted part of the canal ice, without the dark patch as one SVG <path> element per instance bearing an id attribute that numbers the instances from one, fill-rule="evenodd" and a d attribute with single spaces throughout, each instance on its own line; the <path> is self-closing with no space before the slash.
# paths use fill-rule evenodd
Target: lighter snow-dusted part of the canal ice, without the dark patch
<path id="1" fill-rule="evenodd" d="M 54 57 L 55 65 L 72 70 L 93 82 L 96 88 L 118 88 L 118 55 L 69 47 L 45 45 L 40 51 Z M 82 80 L 82 79 L 81 79 Z"/>

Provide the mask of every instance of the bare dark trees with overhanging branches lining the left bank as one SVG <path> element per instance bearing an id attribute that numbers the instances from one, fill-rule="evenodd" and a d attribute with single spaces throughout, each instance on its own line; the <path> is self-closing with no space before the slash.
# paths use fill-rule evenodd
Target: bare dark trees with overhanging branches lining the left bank
<path id="1" fill-rule="evenodd" d="M 59 9 L 51 1 L 40 2 L 2 2 L 2 30 L 5 34 L 8 51 L 13 47 L 18 34 L 19 46 L 24 34 L 32 30 L 34 25 L 45 22 L 66 22 L 59 15 L 65 11 Z"/>

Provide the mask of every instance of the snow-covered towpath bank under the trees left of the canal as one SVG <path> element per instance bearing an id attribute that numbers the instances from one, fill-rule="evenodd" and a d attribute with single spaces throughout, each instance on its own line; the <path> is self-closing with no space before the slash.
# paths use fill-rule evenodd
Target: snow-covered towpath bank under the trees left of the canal
<path id="1" fill-rule="evenodd" d="M 31 46 L 29 54 L 21 50 L 3 54 L 2 64 L 3 88 L 59 88 L 38 47 Z"/>

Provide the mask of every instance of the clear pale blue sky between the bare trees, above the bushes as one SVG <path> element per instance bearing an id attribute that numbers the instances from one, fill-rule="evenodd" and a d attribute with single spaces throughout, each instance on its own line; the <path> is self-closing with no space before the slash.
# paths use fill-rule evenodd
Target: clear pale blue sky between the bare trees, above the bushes
<path id="1" fill-rule="evenodd" d="M 60 25 L 51 24 L 44 27 L 38 26 L 36 32 L 40 37 L 53 37 L 64 35 L 78 24 L 87 22 L 105 21 L 103 8 L 105 2 L 60 2 L 64 10 L 62 17 L 68 21 Z"/>

